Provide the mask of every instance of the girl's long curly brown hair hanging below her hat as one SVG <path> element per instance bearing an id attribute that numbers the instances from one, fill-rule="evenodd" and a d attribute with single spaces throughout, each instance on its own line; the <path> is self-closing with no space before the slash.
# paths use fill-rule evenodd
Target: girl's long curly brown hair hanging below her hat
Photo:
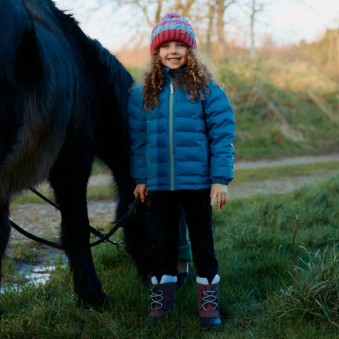
<path id="1" fill-rule="evenodd" d="M 187 49 L 187 68 L 184 74 L 178 70 L 178 75 L 174 79 L 174 86 L 181 86 L 188 93 L 188 99 L 192 102 L 199 96 L 204 100 L 204 94 L 201 91 L 201 85 L 205 93 L 209 93 L 208 85 L 210 81 L 216 82 L 215 75 L 208 68 L 208 65 L 201 60 L 197 52 Z M 159 50 L 154 52 L 144 75 L 143 97 L 145 111 L 152 111 L 155 106 L 159 105 L 159 93 L 164 83 L 164 73 L 160 61 Z"/>

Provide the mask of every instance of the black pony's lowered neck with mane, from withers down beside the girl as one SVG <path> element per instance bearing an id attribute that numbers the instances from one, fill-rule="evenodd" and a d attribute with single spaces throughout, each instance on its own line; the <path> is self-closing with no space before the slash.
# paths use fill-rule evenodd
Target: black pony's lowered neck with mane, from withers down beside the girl
<path id="1" fill-rule="evenodd" d="M 79 67 L 83 63 L 94 86 L 96 155 L 112 169 L 117 182 L 130 182 L 127 106 L 134 79 L 99 41 L 83 33 L 71 15 L 49 3 L 70 46 L 75 47 Z"/>

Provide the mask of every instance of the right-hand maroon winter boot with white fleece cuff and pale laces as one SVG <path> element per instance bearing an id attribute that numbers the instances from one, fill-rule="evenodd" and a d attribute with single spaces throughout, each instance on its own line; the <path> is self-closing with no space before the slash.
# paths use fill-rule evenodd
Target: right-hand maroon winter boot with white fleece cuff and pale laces
<path id="1" fill-rule="evenodd" d="M 206 278 L 197 277 L 200 324 L 203 328 L 222 327 L 219 315 L 219 281 L 217 274 L 211 284 Z"/>

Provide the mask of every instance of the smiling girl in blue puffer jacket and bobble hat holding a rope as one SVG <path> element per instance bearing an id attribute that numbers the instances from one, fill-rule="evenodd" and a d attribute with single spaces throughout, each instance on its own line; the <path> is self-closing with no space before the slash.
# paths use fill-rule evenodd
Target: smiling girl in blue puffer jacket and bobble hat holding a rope
<path id="1" fill-rule="evenodd" d="M 156 229 L 152 310 L 158 322 L 175 311 L 178 225 L 182 206 L 197 269 L 198 304 L 205 328 L 222 326 L 220 280 L 214 253 L 212 205 L 226 203 L 233 179 L 235 121 L 230 102 L 199 60 L 186 18 L 164 15 L 151 36 L 151 69 L 128 105 L 131 175 L 141 200 L 152 192 Z"/>

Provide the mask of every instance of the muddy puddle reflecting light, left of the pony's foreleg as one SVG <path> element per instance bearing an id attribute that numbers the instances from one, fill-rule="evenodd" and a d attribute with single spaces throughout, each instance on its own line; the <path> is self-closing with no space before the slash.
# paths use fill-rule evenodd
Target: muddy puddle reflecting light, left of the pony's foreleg
<path id="1" fill-rule="evenodd" d="M 42 248 L 36 250 L 39 254 L 33 261 L 28 259 L 16 259 L 13 258 L 12 251 L 9 248 L 7 255 L 15 260 L 13 270 L 13 280 L 19 276 L 21 279 L 25 279 L 25 282 L 19 285 L 16 282 L 4 281 L 1 284 L 0 294 L 4 291 L 21 291 L 22 287 L 26 284 L 44 284 L 51 279 L 51 272 L 55 271 L 55 265 L 53 264 L 57 259 L 60 260 L 62 256 L 62 267 L 68 265 L 68 260 L 65 260 L 65 254 L 63 251 L 51 249 L 48 246 L 41 246 Z"/>

